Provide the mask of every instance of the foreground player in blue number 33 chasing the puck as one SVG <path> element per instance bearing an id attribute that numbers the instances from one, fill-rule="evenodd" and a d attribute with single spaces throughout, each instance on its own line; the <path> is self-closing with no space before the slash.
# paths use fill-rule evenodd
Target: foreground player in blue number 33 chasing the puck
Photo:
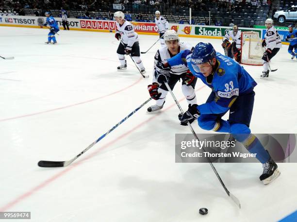
<path id="1" fill-rule="evenodd" d="M 163 70 L 163 73 L 156 73 L 157 81 L 165 82 L 167 70 L 179 64 L 186 65 L 212 89 L 204 104 L 191 104 L 183 115 L 179 115 L 181 125 L 198 119 L 202 129 L 233 134 L 263 164 L 260 180 L 268 184 L 276 179 L 280 175 L 277 164 L 249 129 L 255 96 L 253 88 L 257 85 L 253 78 L 233 59 L 216 52 L 210 43 L 200 42 L 193 52 L 181 51 L 167 59 L 167 63 L 157 64 Z M 228 110 L 229 120 L 222 120 Z"/>

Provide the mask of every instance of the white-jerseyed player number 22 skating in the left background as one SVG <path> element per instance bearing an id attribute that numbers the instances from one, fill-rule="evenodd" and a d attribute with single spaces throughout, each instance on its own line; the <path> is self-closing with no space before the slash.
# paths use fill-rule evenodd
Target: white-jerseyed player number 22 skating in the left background
<path id="1" fill-rule="evenodd" d="M 127 69 L 127 62 L 125 60 L 125 54 L 131 54 L 133 60 L 137 64 L 138 68 L 144 74 L 146 69 L 143 66 L 143 63 L 140 59 L 140 50 L 139 50 L 139 38 L 138 34 L 134 32 L 134 26 L 127 20 L 125 20 L 125 14 L 123 12 L 115 12 L 114 14 L 116 20 L 116 31 L 115 38 L 120 40 L 120 44 L 117 48 L 117 56 L 120 61 L 120 66 L 117 67 L 117 70 Z"/>

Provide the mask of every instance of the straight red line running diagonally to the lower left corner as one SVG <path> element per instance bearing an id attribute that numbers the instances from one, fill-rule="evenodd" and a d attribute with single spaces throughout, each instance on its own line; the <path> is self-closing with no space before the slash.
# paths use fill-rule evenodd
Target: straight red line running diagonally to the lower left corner
<path id="1" fill-rule="evenodd" d="M 205 85 L 199 87 L 196 91 L 202 89 Z M 183 101 L 185 98 L 183 97 L 182 99 L 179 100 L 179 102 Z M 176 104 L 173 103 L 170 106 L 168 106 L 167 108 L 165 108 L 163 110 L 163 112 L 165 112 L 168 109 L 171 109 L 173 106 L 175 106 Z M 145 123 L 149 122 L 150 120 L 155 119 L 157 116 L 160 116 L 163 112 L 160 113 L 156 113 L 156 115 L 148 118 L 148 120 L 145 120 L 141 123 L 139 123 L 137 126 L 135 126 L 134 128 L 132 128 L 131 130 L 127 131 L 126 133 L 122 134 L 119 137 L 116 137 L 115 139 L 113 139 L 112 141 L 110 141 L 109 143 L 105 144 L 102 147 L 99 147 L 95 152 L 87 155 L 85 158 L 78 160 L 77 162 L 72 163 L 70 166 L 66 167 L 65 170 L 58 172 L 57 174 L 55 174 L 54 176 L 50 177 L 49 179 L 43 181 L 42 183 L 40 183 L 39 185 L 37 185 L 36 187 L 30 189 L 29 191 L 25 192 L 24 194 L 18 196 L 16 199 L 14 199 L 13 201 L 9 202 L 8 204 L 2 206 L 0 208 L 0 212 L 3 211 L 7 211 L 8 209 L 10 209 L 11 207 L 13 207 L 14 205 L 18 204 L 19 202 L 21 202 L 22 200 L 25 200 L 26 198 L 30 197 L 31 195 L 33 195 L 36 191 L 40 190 L 41 188 L 46 187 L 47 185 L 49 185 L 51 182 L 53 182 L 54 180 L 58 179 L 59 177 L 61 177 L 62 175 L 64 175 L 66 172 L 70 171 L 71 169 L 79 166 L 80 164 L 83 163 L 84 160 L 90 159 L 93 156 L 95 156 L 96 154 L 98 154 L 101 150 L 103 150 L 104 148 L 108 147 L 109 145 L 112 145 L 113 143 L 115 143 L 116 141 L 118 141 L 119 139 L 128 136 L 130 133 L 132 133 L 134 130 L 138 129 L 139 127 L 141 127 L 142 125 L 144 125 Z"/>

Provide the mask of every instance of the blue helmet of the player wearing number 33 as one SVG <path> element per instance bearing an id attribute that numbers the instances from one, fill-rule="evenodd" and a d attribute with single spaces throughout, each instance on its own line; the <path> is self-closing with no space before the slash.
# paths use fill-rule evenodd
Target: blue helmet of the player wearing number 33
<path id="1" fill-rule="evenodd" d="M 200 72 L 198 68 L 199 64 L 210 63 L 212 64 L 212 59 L 215 58 L 215 50 L 212 44 L 199 42 L 191 55 L 191 64 L 195 71 Z"/>

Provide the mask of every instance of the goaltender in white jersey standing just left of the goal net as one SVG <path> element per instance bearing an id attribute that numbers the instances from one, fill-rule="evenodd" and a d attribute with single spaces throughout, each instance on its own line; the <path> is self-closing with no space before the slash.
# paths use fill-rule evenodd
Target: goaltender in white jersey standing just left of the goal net
<path id="1" fill-rule="evenodd" d="M 230 38 L 232 38 L 232 43 L 230 43 Z M 240 63 L 241 57 L 241 31 L 238 30 L 237 25 L 232 27 L 225 37 L 223 38 L 224 42 L 222 43 L 223 49 L 228 52 L 228 56 L 235 59 Z"/>

